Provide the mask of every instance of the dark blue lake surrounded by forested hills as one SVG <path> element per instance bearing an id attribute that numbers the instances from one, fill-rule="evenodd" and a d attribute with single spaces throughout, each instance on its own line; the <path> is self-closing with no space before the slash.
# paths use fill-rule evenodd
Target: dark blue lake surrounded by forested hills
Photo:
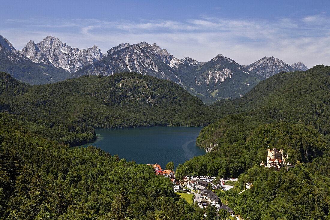
<path id="1" fill-rule="evenodd" d="M 148 127 L 95 129 L 97 139 L 93 145 L 112 156 L 137 164 L 159 164 L 163 169 L 173 161 L 175 168 L 194 156 L 206 151 L 196 146 L 196 138 L 202 127 Z"/>

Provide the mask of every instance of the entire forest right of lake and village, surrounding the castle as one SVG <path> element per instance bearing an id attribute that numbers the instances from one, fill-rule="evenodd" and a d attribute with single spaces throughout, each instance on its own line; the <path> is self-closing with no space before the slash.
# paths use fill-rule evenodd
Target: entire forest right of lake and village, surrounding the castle
<path id="1" fill-rule="evenodd" d="M 211 152 L 179 165 L 176 174 L 238 177 L 235 190 L 217 194 L 244 219 L 330 219 L 329 101 L 324 65 L 276 74 L 242 98 L 218 101 L 212 108 L 229 115 L 196 140 Z M 295 167 L 260 167 L 274 147 Z M 247 181 L 253 187 L 239 194 Z"/>

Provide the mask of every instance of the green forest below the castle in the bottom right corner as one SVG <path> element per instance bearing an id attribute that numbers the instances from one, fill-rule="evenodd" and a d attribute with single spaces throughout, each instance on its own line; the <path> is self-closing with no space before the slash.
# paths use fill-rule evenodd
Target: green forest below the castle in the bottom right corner
<path id="1" fill-rule="evenodd" d="M 217 190 L 216 194 L 244 219 L 328 220 L 329 170 L 329 159 L 324 157 L 311 164 L 297 163 L 289 171 L 255 165 L 239 176 L 235 190 Z M 245 181 L 253 187 L 239 194 Z"/>

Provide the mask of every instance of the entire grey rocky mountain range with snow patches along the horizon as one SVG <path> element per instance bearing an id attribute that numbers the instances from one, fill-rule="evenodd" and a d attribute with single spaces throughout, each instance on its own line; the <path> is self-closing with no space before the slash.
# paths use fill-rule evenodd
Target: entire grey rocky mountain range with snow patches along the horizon
<path id="1" fill-rule="evenodd" d="M 119 44 L 104 55 L 96 45 L 79 50 L 52 36 L 37 44 L 29 41 L 17 51 L 0 35 L 0 46 L 0 71 L 28 84 L 54 83 L 84 75 L 137 72 L 171 80 L 208 104 L 241 97 L 276 73 L 308 69 L 302 62 L 290 66 L 276 57 L 263 57 L 247 66 L 222 54 L 208 62 L 190 57 L 178 59 L 157 44 L 146 42 Z"/>

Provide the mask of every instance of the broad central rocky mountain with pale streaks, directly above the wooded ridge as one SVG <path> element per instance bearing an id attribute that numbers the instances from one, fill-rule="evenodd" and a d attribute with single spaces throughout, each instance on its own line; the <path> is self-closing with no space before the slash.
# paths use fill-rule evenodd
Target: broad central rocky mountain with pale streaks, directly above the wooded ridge
<path id="1" fill-rule="evenodd" d="M 111 54 L 110 54 L 111 53 Z M 179 59 L 160 49 L 156 44 L 118 45 L 108 51 L 103 59 L 75 72 L 71 78 L 84 75 L 109 76 L 117 72 L 137 72 L 179 83 L 175 76 Z"/>

